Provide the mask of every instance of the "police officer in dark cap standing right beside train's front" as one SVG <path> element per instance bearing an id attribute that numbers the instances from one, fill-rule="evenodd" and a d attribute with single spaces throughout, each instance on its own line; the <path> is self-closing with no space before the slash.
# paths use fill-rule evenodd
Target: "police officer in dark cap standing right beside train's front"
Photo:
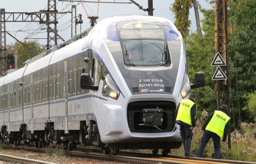
<path id="1" fill-rule="evenodd" d="M 192 141 L 192 130 L 196 126 L 196 111 L 197 105 L 195 103 L 196 95 L 190 94 L 188 99 L 181 100 L 175 111 L 176 123 L 180 126 L 181 138 L 183 140 L 184 155 L 185 157 L 193 157 L 190 154 L 190 145 Z"/>

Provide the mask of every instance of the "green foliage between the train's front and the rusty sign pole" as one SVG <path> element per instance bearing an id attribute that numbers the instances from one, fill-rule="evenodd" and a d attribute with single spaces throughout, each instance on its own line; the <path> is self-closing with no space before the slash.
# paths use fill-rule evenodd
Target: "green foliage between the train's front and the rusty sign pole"
<path id="1" fill-rule="evenodd" d="M 200 5 L 198 7 L 204 15 L 202 30 L 205 33 L 204 35 L 191 33 L 185 40 L 190 82 L 193 82 L 194 76 L 198 71 L 203 71 L 206 77 L 205 87 L 192 90 L 198 97 L 197 118 L 200 117 L 200 112 L 203 109 L 209 112 L 217 109 L 217 84 L 215 80 L 212 80 L 216 68 L 211 66 L 215 56 L 214 10 L 203 9 Z M 224 99 L 224 95 L 221 96 Z"/>

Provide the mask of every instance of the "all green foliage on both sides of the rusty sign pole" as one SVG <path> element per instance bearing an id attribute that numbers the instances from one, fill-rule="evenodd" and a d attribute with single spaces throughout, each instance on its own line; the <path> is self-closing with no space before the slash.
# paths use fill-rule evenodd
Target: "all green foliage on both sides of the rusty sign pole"
<path id="1" fill-rule="evenodd" d="M 211 4 L 212 2 L 210 1 Z M 236 0 L 228 5 L 230 98 L 233 103 L 231 106 L 230 102 L 230 111 L 231 114 L 234 113 L 234 118 L 231 119 L 235 120 L 237 126 L 240 118 L 244 122 L 251 122 L 256 115 L 252 112 L 255 111 L 253 99 L 249 100 L 253 95 L 247 96 L 247 93 L 254 92 L 256 86 L 256 1 Z M 211 66 L 215 56 L 215 13 L 214 9 L 203 9 L 200 5 L 198 7 L 203 14 L 200 20 L 204 34 L 192 32 L 185 38 L 190 82 L 193 82 L 198 71 L 203 71 L 206 77 L 205 87 L 192 90 L 198 97 L 197 118 L 200 117 L 203 109 L 208 112 L 217 109 L 217 85 L 216 81 L 212 80 L 216 68 Z M 236 78 L 239 93 L 236 91 Z M 227 104 L 226 93 L 224 91 L 220 93 L 220 102 Z M 240 109 L 244 109 L 242 111 L 238 108 L 238 99 Z M 234 129 L 235 125 L 232 124 L 231 127 Z"/>

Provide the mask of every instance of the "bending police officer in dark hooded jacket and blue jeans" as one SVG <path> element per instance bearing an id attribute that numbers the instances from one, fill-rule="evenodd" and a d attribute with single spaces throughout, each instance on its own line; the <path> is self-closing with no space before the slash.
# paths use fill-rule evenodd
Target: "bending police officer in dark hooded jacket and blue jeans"
<path id="1" fill-rule="evenodd" d="M 227 116 L 227 105 L 219 107 L 220 111 L 213 111 L 203 123 L 202 141 L 197 152 L 197 157 L 202 157 L 206 144 L 212 138 L 214 145 L 214 159 L 219 159 L 221 152 L 221 139 L 225 143 L 230 124 L 230 117 Z"/>

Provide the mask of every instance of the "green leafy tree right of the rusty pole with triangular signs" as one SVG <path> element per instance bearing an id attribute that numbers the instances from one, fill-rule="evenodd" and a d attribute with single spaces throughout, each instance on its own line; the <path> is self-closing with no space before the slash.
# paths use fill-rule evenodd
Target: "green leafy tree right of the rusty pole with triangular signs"
<path id="1" fill-rule="evenodd" d="M 230 69 L 230 79 L 232 88 L 236 88 L 237 74 L 237 86 L 239 93 L 232 92 L 235 112 L 239 96 L 240 108 L 244 109 L 241 113 L 241 119 L 243 121 L 252 121 L 256 114 L 252 114 L 249 108 L 248 98 L 255 92 L 256 86 L 256 1 L 254 0 L 236 0 L 230 4 L 229 17 L 230 24 L 233 25 L 233 29 L 230 28 L 230 59 L 232 66 Z M 233 19 L 231 19 L 233 18 Z M 232 33 L 231 33 L 232 32 Z M 250 98 L 251 99 L 251 98 Z"/>

